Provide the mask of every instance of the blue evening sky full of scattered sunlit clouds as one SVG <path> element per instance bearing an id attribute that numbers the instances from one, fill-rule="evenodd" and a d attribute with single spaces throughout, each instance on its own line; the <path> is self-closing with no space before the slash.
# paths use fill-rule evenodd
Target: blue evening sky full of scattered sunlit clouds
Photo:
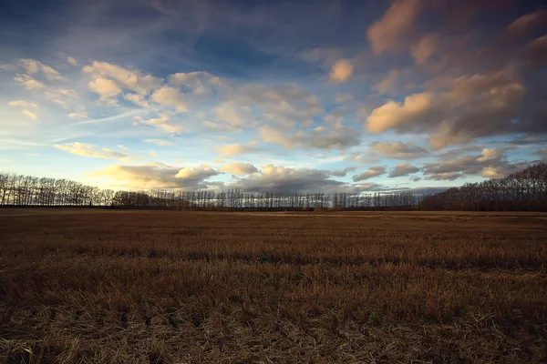
<path id="1" fill-rule="evenodd" d="M 2 3 L 0 171 L 423 193 L 547 160 L 541 1 Z"/>

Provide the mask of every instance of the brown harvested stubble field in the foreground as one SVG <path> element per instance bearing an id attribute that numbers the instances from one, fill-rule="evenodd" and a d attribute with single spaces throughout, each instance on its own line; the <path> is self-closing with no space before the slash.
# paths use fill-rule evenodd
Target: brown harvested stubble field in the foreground
<path id="1" fill-rule="evenodd" d="M 0 210 L 0 362 L 547 362 L 547 215 Z"/>

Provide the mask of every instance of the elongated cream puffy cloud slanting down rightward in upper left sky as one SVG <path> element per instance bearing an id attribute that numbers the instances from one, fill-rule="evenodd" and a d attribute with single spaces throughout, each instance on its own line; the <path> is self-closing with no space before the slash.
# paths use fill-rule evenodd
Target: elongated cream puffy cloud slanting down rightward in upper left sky
<path id="1" fill-rule="evenodd" d="M 93 61 L 91 65 L 82 68 L 94 78 L 108 78 L 116 82 L 121 88 L 127 88 L 140 95 L 147 95 L 161 85 L 161 79 L 143 74 L 140 71 L 131 71 L 108 62 Z"/>

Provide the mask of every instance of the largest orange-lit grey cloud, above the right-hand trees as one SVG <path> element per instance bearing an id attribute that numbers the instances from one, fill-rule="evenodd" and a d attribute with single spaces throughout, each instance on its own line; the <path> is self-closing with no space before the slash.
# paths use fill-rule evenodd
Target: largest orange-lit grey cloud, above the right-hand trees
<path id="1" fill-rule="evenodd" d="M 438 149 L 474 137 L 531 131 L 540 122 L 514 123 L 525 87 L 510 68 L 449 80 L 441 77 L 427 88 L 432 89 L 407 96 L 403 103 L 391 100 L 375 108 L 366 129 L 375 134 L 390 129 L 430 132 L 431 147 Z"/>

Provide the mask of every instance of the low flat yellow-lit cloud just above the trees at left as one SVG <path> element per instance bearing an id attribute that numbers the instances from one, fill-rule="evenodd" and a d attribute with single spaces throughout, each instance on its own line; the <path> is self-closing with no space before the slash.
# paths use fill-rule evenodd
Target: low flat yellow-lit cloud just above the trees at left
<path id="1" fill-rule="evenodd" d="M 209 166 L 173 167 L 163 163 L 139 166 L 114 165 L 91 172 L 91 177 L 109 177 L 135 189 L 205 189 L 207 179 L 219 173 Z"/>

